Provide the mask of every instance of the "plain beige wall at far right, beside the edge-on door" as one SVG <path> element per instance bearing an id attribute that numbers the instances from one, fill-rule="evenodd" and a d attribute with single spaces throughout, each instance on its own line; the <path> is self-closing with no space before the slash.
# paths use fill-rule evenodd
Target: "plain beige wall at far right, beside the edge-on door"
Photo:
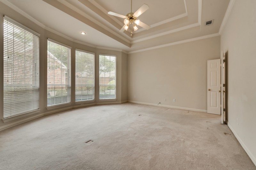
<path id="1" fill-rule="evenodd" d="M 228 125 L 256 165 L 255 16 L 256 1 L 236 0 L 221 33 L 221 50 L 227 51 Z"/>

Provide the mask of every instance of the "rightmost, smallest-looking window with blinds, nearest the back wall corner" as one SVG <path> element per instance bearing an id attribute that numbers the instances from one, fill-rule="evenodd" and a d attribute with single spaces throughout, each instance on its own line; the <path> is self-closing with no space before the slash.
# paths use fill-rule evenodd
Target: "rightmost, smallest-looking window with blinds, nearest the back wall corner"
<path id="1" fill-rule="evenodd" d="M 100 54 L 100 99 L 116 98 L 116 56 Z"/>

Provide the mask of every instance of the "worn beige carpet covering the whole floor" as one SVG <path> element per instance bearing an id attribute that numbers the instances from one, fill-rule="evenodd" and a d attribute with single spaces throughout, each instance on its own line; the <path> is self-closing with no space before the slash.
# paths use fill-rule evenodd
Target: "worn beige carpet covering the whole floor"
<path id="1" fill-rule="evenodd" d="M 1 131 L 0 169 L 256 167 L 218 115 L 124 103 L 60 112 Z"/>

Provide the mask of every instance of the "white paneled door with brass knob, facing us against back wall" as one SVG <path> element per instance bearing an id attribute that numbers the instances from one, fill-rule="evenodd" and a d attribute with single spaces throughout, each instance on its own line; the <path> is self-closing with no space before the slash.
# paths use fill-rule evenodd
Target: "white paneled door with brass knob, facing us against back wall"
<path id="1" fill-rule="evenodd" d="M 220 115 L 220 59 L 207 61 L 207 113 Z"/>

